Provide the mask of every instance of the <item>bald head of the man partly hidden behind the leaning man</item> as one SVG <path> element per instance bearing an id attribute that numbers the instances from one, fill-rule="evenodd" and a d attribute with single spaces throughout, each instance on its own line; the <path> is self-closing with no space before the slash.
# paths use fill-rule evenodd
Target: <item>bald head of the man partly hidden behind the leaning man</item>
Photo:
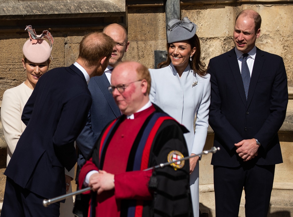
<path id="1" fill-rule="evenodd" d="M 121 62 L 124 53 L 128 50 L 129 41 L 127 32 L 123 26 L 113 23 L 107 25 L 103 33 L 110 36 L 115 41 L 115 46 L 113 46 L 113 51 L 109 60 L 109 65 L 114 67 Z"/>

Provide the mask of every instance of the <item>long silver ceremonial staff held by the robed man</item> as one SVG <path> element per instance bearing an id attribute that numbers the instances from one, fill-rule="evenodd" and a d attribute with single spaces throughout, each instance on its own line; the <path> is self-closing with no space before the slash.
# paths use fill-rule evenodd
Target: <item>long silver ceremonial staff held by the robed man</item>
<path id="1" fill-rule="evenodd" d="M 193 155 L 193 156 L 188 156 L 188 157 L 185 157 L 185 158 L 181 158 L 179 160 L 174 160 L 174 161 L 171 161 L 171 162 L 166 162 L 166 163 L 160 163 L 159 165 L 156 165 L 156 166 L 153 166 L 153 167 L 150 167 L 150 168 L 147 168 L 143 171 L 147 171 L 147 170 L 153 170 L 153 169 L 157 169 L 157 168 L 163 168 L 165 166 L 168 166 L 172 163 L 176 163 L 178 161 L 182 161 L 182 160 L 188 160 L 189 158 L 193 158 L 195 156 L 198 156 L 198 155 L 202 155 L 202 154 L 208 154 L 208 153 L 215 153 L 216 151 L 219 151 L 220 148 L 216 148 L 216 147 L 212 147 L 210 150 L 205 150 L 205 151 L 202 151 L 202 153 L 200 154 L 197 154 L 197 155 Z M 52 199 L 44 199 L 43 200 L 43 205 L 45 207 L 49 206 L 50 204 L 53 204 L 53 203 L 56 203 L 58 201 L 61 201 L 61 200 L 64 200 L 68 197 L 71 197 L 71 196 L 74 196 L 74 195 L 77 195 L 77 194 L 81 194 L 81 193 L 84 193 L 84 192 L 87 192 L 87 191 L 90 191 L 92 188 L 91 187 L 87 187 L 87 188 L 84 188 L 84 189 L 81 189 L 81 190 L 78 190 L 76 192 L 72 192 L 70 194 L 64 194 L 64 195 L 61 195 L 59 197 L 54 197 Z"/>

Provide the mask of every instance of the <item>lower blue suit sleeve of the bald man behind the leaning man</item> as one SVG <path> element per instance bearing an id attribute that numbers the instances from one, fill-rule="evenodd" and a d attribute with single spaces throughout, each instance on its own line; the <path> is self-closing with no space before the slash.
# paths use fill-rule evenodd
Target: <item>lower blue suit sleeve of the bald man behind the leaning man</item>
<path id="1" fill-rule="evenodd" d="M 95 145 L 98 136 L 93 132 L 91 128 L 91 110 L 88 112 L 88 119 L 86 122 L 86 126 L 81 131 L 79 136 L 76 139 L 76 145 L 81 151 L 81 155 L 84 159 L 87 159 L 91 153 L 93 146 Z"/>

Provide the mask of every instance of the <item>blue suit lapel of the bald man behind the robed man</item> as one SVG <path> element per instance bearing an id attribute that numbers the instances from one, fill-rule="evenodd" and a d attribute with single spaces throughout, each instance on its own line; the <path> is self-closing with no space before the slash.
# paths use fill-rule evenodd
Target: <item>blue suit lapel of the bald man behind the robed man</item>
<path id="1" fill-rule="evenodd" d="M 108 91 L 108 87 L 110 86 L 110 82 L 107 78 L 107 76 L 105 75 L 105 73 L 103 73 L 101 76 L 95 76 L 93 77 L 94 81 L 97 82 L 98 86 L 100 87 L 102 93 L 104 94 L 110 108 L 112 109 L 114 115 L 116 117 L 120 117 L 121 113 L 120 110 L 118 108 L 118 106 L 115 103 L 115 100 L 112 96 L 112 94 L 110 94 L 110 92 Z"/>

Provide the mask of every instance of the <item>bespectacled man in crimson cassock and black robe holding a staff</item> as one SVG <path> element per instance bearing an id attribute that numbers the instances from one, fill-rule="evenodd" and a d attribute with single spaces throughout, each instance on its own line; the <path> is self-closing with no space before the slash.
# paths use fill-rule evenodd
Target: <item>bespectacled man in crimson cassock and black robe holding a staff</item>
<path id="1" fill-rule="evenodd" d="M 144 171 L 188 156 L 187 129 L 151 104 L 142 64 L 119 64 L 111 83 L 124 115 L 105 127 L 80 171 L 79 186 L 93 189 L 88 216 L 193 216 L 188 161 Z"/>

